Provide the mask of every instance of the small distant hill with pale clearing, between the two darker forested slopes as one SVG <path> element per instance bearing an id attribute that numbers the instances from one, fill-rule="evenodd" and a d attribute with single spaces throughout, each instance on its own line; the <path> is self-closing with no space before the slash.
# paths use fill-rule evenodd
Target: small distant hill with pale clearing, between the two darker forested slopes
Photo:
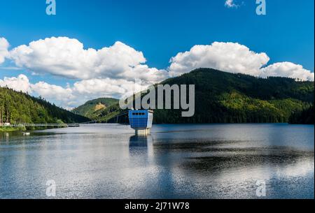
<path id="1" fill-rule="evenodd" d="M 97 115 L 95 112 L 105 110 L 116 103 L 118 103 L 118 99 L 115 98 L 97 98 L 78 106 L 78 108 L 73 109 L 72 112 L 77 115 L 93 118 L 94 115 Z"/>

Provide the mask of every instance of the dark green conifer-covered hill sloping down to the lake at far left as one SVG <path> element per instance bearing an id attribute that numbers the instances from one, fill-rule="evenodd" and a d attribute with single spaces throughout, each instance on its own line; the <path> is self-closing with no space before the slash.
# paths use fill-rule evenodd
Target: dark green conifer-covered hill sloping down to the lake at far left
<path id="1" fill-rule="evenodd" d="M 78 123 L 88 122 L 86 117 L 58 108 L 42 98 L 0 87 L 0 123 Z"/>

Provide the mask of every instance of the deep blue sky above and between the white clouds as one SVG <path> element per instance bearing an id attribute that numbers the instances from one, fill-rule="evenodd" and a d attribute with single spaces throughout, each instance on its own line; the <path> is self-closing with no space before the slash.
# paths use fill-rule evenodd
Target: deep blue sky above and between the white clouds
<path id="1" fill-rule="evenodd" d="M 150 68 L 167 69 L 169 60 L 194 45 L 239 43 L 265 52 L 269 61 L 290 61 L 314 72 L 314 1 L 266 0 L 267 14 L 255 13 L 255 0 L 57 0 L 57 15 L 45 14 L 45 0 L 0 0 L 0 38 L 9 50 L 52 36 L 76 38 L 84 48 L 110 47 L 116 41 L 141 51 Z M 66 87 L 79 79 L 53 73 L 31 75 L 7 59 L 0 79 L 23 73 L 30 82 L 45 81 Z M 53 99 L 53 98 L 52 98 Z"/>

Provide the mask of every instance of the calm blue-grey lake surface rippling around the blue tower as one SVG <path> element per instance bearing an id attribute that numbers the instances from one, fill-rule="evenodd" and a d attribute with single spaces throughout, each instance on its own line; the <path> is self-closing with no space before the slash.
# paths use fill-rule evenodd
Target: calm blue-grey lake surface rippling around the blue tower
<path id="1" fill-rule="evenodd" d="M 314 198 L 314 125 L 97 124 L 0 133 L 0 198 Z"/>

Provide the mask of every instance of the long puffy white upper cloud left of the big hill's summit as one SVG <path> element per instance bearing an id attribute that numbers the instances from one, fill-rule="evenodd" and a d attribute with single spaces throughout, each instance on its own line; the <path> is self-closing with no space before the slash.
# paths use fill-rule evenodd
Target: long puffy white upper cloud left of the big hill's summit
<path id="1" fill-rule="evenodd" d="M 10 51 L 10 59 L 33 73 L 78 80 L 133 80 L 137 75 L 148 82 L 156 82 L 166 75 L 165 71 L 148 68 L 142 52 L 119 41 L 111 47 L 94 50 L 84 49 L 83 43 L 73 38 L 45 38 L 14 48 Z"/>

